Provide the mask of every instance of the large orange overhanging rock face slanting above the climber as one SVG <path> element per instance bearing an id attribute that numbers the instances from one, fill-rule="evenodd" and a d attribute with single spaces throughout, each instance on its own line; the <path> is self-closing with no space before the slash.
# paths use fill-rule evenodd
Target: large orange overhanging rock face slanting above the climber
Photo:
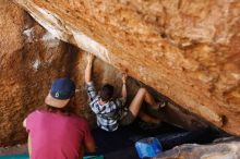
<path id="1" fill-rule="evenodd" d="M 56 37 L 240 135 L 239 0 L 15 0 Z"/>

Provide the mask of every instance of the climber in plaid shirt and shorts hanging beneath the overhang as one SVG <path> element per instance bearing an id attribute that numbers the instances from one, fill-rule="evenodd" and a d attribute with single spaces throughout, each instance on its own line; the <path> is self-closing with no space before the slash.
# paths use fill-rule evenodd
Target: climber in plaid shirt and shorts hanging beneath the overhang
<path id="1" fill-rule="evenodd" d="M 159 110 L 165 103 L 159 103 L 154 100 L 151 94 L 145 88 L 140 88 L 136 96 L 132 100 L 129 108 L 125 108 L 127 101 L 127 75 L 122 76 L 122 94 L 121 98 L 112 99 L 113 86 L 105 84 L 99 94 L 97 94 L 92 81 L 92 66 L 94 56 L 88 53 L 87 65 L 85 70 L 85 83 L 87 95 L 89 97 L 89 107 L 97 117 L 97 125 L 108 132 L 118 130 L 120 125 L 129 125 L 139 115 L 143 121 L 151 123 L 160 123 L 160 119 L 155 119 L 141 111 L 142 102 L 146 101 L 153 109 Z"/>

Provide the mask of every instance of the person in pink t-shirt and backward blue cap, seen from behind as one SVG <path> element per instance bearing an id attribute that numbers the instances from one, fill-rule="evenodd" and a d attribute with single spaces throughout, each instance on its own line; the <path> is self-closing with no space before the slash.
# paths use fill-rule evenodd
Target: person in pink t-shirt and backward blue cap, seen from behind
<path id="1" fill-rule="evenodd" d="M 84 148 L 95 151 L 86 120 L 71 111 L 74 93 L 75 85 L 70 78 L 56 80 L 45 99 L 46 108 L 24 120 L 31 159 L 79 159 Z"/>

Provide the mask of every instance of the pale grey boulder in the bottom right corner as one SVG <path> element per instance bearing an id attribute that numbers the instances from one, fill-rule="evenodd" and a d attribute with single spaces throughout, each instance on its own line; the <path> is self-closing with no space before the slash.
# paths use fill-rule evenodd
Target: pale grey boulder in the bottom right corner
<path id="1" fill-rule="evenodd" d="M 235 140 L 211 145 L 184 144 L 154 159 L 239 159 L 240 142 L 236 138 Z"/>

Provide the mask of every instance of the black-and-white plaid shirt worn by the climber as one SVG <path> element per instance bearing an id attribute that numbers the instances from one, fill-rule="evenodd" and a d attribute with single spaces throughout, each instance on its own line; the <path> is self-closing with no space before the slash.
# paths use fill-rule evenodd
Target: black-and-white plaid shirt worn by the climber
<path id="1" fill-rule="evenodd" d="M 86 83 L 89 107 L 97 117 L 97 125 L 108 132 L 116 131 L 119 126 L 118 121 L 122 119 L 128 109 L 124 108 L 125 98 L 117 98 L 105 105 L 100 105 L 100 97 L 97 95 L 94 83 Z"/>

